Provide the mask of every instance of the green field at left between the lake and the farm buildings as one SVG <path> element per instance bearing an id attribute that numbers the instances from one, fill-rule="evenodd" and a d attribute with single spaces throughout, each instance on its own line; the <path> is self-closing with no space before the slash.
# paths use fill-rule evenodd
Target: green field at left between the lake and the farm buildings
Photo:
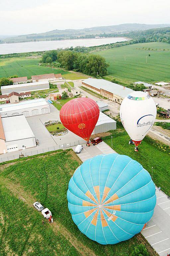
<path id="1" fill-rule="evenodd" d="M 27 76 L 31 78 L 33 75 L 42 75 L 61 73 L 64 78 L 74 80 L 85 78 L 84 75 L 71 73 L 62 69 L 53 69 L 50 67 L 40 66 L 40 58 L 20 57 L 0 59 L 0 78 L 17 75 L 18 77 Z"/>

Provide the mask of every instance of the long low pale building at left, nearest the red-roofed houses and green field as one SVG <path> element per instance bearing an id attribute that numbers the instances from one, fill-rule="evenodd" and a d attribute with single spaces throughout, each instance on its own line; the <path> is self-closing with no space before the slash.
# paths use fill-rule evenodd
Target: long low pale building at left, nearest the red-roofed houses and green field
<path id="1" fill-rule="evenodd" d="M 3 94 L 9 94 L 11 92 L 31 92 L 49 89 L 48 82 L 35 82 L 26 84 L 6 85 L 1 86 L 1 92 Z"/>

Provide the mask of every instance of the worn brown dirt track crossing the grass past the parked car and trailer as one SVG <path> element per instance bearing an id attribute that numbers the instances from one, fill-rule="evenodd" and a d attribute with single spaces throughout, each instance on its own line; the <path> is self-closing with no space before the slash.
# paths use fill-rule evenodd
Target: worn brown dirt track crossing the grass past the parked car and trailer
<path id="1" fill-rule="evenodd" d="M 5 185 L 17 198 L 22 200 L 29 207 L 33 208 L 33 203 L 37 201 L 36 198 L 34 198 L 28 192 L 24 191 L 23 187 L 19 183 L 14 184 L 9 179 L 3 178 L 1 176 L 0 176 L 0 183 Z M 49 224 L 49 225 L 51 225 L 51 224 Z M 62 226 L 59 222 L 55 221 L 51 225 L 51 228 L 53 229 L 53 231 L 55 233 L 60 232 L 61 235 L 63 235 L 70 242 L 71 246 L 74 246 L 74 248 L 82 256 L 96 256 L 96 254 L 91 249 L 89 249 L 88 247 L 83 245 L 80 241 L 78 241 L 77 238 L 73 234 L 71 234 L 64 226 Z M 80 235 L 82 235 L 81 232 L 80 232 Z M 71 248 L 71 246 L 70 246 L 70 248 Z M 68 251 L 65 252 L 64 255 L 67 255 Z"/>

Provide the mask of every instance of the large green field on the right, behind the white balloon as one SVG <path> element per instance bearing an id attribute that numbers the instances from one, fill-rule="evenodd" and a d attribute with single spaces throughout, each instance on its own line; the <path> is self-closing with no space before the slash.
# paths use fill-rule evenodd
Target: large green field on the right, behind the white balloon
<path id="1" fill-rule="evenodd" d="M 170 80 L 170 44 L 159 42 L 132 44 L 96 52 L 96 54 L 106 58 L 110 65 L 109 75 L 120 81 L 152 83 Z"/>

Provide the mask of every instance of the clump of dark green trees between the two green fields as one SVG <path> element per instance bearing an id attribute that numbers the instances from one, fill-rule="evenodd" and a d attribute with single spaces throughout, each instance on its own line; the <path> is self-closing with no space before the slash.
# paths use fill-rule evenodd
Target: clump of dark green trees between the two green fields
<path id="1" fill-rule="evenodd" d="M 73 50 L 47 51 L 42 55 L 41 62 L 94 77 L 107 75 L 107 68 L 109 66 L 102 56 Z"/>

